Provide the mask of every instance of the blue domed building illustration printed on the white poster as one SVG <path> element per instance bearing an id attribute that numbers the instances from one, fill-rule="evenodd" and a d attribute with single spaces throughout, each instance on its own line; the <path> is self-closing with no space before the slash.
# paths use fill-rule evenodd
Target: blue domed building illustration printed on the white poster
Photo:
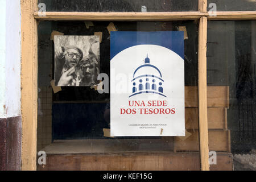
<path id="1" fill-rule="evenodd" d="M 144 64 L 135 69 L 131 82 L 133 83 L 133 88 L 129 97 L 142 93 L 154 93 L 164 96 L 162 73 L 158 68 L 150 64 L 148 55 L 144 60 Z"/>

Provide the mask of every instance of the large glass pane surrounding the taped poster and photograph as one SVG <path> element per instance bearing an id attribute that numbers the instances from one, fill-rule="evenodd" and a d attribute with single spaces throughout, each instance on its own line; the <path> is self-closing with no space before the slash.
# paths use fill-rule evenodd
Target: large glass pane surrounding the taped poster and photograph
<path id="1" fill-rule="evenodd" d="M 61 86 L 53 93 L 50 81 L 54 73 L 54 43 L 52 31 L 64 35 L 94 35 L 102 32 L 100 43 L 100 72 L 110 75 L 110 22 L 39 22 L 38 25 L 38 151 L 47 152 L 48 166 L 38 169 L 115 169 L 136 170 L 134 158 L 142 158 L 140 169 L 200 170 L 199 119 L 197 92 L 198 22 L 114 22 L 118 31 L 185 31 L 185 137 L 107 137 L 110 129 L 109 94 L 100 94 L 90 86 Z M 126 156 L 129 156 L 126 160 Z M 148 155 L 146 155 L 149 154 Z M 51 155 L 48 155 L 51 154 Z M 56 154 L 76 154 L 64 156 Z M 77 159 L 77 154 L 80 159 Z M 94 167 L 85 158 L 97 157 Z M 102 159 L 100 157 L 102 155 Z M 115 158 L 112 155 L 116 154 Z M 111 158 L 108 165 L 100 165 Z M 158 164 L 147 165 L 152 158 Z M 126 160 L 123 166 L 115 160 Z M 67 162 L 59 165 L 56 160 Z M 75 160 L 80 160 L 80 166 Z M 72 164 L 71 164 L 72 163 Z M 69 165 L 68 165 L 69 164 Z M 160 165 L 159 165 L 160 164 Z M 162 166 L 162 167 L 159 167 Z M 100 168 L 103 167 L 103 168 Z M 108 167 L 108 168 L 107 168 Z"/>

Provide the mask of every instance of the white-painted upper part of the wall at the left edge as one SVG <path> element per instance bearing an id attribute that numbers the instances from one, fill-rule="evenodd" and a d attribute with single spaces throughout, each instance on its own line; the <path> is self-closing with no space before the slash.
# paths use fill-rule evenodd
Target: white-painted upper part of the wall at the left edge
<path id="1" fill-rule="evenodd" d="M 20 115 L 20 0 L 0 0 L 0 117 Z"/>

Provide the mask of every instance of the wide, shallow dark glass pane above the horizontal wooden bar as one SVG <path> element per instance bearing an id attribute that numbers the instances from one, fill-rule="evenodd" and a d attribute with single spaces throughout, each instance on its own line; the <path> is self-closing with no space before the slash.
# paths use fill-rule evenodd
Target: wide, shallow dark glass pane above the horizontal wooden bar
<path id="1" fill-rule="evenodd" d="M 46 11 L 164 12 L 198 11 L 197 0 L 39 0 Z"/>

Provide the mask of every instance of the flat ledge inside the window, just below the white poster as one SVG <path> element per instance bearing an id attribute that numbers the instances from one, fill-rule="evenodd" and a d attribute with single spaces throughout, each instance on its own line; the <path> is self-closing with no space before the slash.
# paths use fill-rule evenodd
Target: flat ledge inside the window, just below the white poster
<path id="1" fill-rule="evenodd" d="M 161 139 L 54 140 L 42 149 L 46 154 L 114 154 L 126 152 L 173 152 L 174 137 Z"/>

